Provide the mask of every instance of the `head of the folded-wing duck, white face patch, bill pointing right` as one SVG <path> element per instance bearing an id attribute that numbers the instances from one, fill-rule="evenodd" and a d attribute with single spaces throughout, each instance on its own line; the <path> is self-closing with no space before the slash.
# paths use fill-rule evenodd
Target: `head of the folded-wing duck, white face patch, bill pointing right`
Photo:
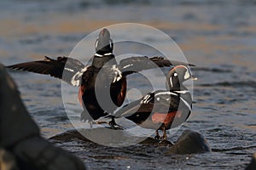
<path id="1" fill-rule="evenodd" d="M 183 86 L 183 82 L 192 79 L 196 80 L 189 69 L 185 65 L 177 65 L 168 72 L 166 76 L 166 88 L 170 90 L 183 90 L 186 89 Z"/>

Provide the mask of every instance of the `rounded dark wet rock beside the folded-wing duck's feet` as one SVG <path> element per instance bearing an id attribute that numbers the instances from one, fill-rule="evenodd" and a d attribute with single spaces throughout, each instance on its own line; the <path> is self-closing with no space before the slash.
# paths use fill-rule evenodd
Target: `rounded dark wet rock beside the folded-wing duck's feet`
<path id="1" fill-rule="evenodd" d="M 211 148 L 200 133 L 185 130 L 177 142 L 166 152 L 166 155 L 195 154 L 208 151 L 211 151 Z"/>

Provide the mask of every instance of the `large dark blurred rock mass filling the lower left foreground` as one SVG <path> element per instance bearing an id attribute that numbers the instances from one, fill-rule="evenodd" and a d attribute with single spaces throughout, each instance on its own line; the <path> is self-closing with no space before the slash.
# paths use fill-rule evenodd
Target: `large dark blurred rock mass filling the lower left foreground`
<path id="1" fill-rule="evenodd" d="M 9 161 L 16 161 L 20 169 L 85 169 L 77 157 L 40 136 L 3 65 L 0 65 L 0 137 L 0 147 L 8 150 Z"/>

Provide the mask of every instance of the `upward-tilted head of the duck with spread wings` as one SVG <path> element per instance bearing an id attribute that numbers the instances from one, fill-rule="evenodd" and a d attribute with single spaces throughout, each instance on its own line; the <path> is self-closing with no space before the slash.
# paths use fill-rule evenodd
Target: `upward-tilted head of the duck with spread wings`
<path id="1" fill-rule="evenodd" d="M 96 54 L 104 55 L 113 53 L 113 40 L 110 38 L 110 32 L 108 29 L 104 28 L 99 33 L 95 42 Z"/>

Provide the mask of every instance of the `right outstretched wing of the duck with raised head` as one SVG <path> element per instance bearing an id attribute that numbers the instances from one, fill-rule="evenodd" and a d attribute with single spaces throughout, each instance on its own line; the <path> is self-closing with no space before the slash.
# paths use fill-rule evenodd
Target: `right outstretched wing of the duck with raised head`
<path id="1" fill-rule="evenodd" d="M 191 65 L 191 64 L 184 63 L 182 61 L 165 59 L 164 57 L 148 58 L 147 56 L 137 56 L 137 57 L 130 57 L 127 59 L 122 59 L 119 63 L 119 69 L 126 76 L 138 71 L 153 69 L 157 67 L 172 66 L 172 65 Z"/>

